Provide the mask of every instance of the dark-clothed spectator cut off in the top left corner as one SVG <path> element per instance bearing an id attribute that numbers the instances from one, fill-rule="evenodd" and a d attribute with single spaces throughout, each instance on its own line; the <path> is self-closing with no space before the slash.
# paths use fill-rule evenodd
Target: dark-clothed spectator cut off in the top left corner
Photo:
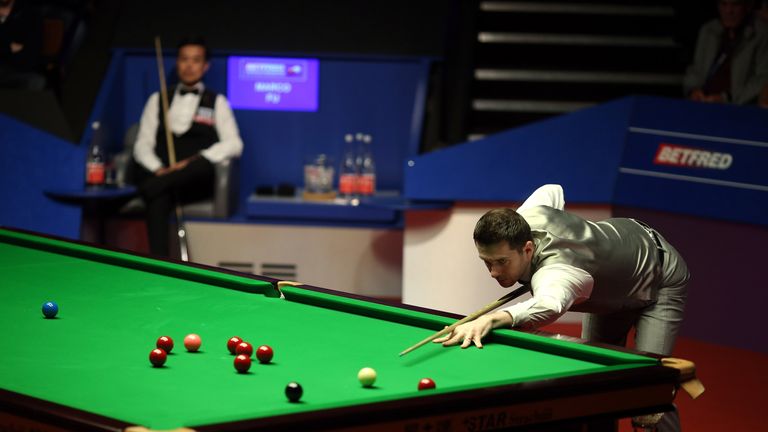
<path id="1" fill-rule="evenodd" d="M 0 88 L 42 90 L 43 27 L 21 0 L 0 0 Z"/>

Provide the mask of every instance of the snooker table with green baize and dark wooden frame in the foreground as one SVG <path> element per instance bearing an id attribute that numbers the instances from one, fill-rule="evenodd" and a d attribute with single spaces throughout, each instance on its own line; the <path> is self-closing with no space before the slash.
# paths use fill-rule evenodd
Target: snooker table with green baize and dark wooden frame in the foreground
<path id="1" fill-rule="evenodd" d="M 457 317 L 20 230 L 0 228 L 0 272 L 0 430 L 565 430 L 668 410 L 679 378 L 656 358 L 513 330 L 399 357 Z M 156 368 L 161 335 L 175 347 Z M 272 362 L 237 373 L 235 335 Z M 437 388 L 418 391 L 424 377 Z"/>

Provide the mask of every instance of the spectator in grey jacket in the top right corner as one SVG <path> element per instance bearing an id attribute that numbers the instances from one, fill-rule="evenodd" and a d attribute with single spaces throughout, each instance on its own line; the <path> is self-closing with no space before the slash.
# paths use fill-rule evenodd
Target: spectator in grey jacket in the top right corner
<path id="1" fill-rule="evenodd" d="M 768 82 L 768 35 L 752 17 L 751 0 L 719 0 L 720 17 L 699 31 L 683 81 L 694 101 L 754 104 Z"/>

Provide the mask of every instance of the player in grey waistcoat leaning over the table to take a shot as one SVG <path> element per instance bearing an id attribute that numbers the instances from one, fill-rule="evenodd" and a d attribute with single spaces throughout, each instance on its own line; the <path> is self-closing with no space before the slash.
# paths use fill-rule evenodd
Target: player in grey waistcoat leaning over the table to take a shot
<path id="1" fill-rule="evenodd" d="M 563 189 L 545 185 L 517 211 L 494 209 L 480 218 L 475 246 L 491 277 L 505 288 L 527 285 L 533 296 L 435 342 L 482 348 L 494 328 L 538 328 L 571 310 L 586 312 L 585 339 L 623 346 L 634 326 L 637 349 L 672 353 L 689 279 L 683 258 L 640 221 L 590 222 L 564 205 Z M 664 417 L 659 430 L 679 430 L 676 413 Z"/>

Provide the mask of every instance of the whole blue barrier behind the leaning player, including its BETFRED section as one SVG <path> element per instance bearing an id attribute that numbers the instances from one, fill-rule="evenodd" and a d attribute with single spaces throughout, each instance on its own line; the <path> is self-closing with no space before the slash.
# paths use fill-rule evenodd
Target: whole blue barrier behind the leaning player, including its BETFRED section
<path id="1" fill-rule="evenodd" d="M 414 200 L 602 203 L 768 224 L 768 110 L 627 97 L 406 161 Z"/>

